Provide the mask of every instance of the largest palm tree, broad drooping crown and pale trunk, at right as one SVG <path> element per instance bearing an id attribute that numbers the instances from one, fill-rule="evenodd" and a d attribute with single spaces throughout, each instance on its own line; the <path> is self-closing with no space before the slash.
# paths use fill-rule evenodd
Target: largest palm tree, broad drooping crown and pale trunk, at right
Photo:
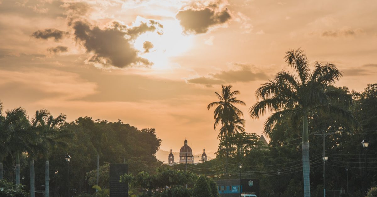
<path id="1" fill-rule="evenodd" d="M 316 62 L 314 71 L 310 71 L 306 55 L 300 49 L 288 51 L 285 61 L 297 73 L 283 70 L 272 81 L 257 89 L 256 97 L 259 101 L 249 109 L 249 115 L 259 119 L 261 115 L 273 112 L 265 121 L 265 134 L 270 134 L 278 121 L 289 119 L 295 123 L 302 119 L 304 196 L 310 197 L 308 116 L 317 112 L 331 113 L 354 125 L 358 123 L 351 111 L 347 110 L 352 105 L 351 96 L 332 86 L 342 76 L 334 64 Z"/>

